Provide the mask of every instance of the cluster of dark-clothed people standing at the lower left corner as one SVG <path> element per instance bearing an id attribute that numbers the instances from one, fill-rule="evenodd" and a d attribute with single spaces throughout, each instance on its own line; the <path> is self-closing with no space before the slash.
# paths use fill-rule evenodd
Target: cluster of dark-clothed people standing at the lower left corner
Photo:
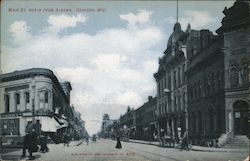
<path id="1" fill-rule="evenodd" d="M 47 136 L 45 134 L 41 134 L 40 138 L 40 151 L 42 153 L 48 152 L 49 148 L 47 146 Z M 35 132 L 35 129 L 32 129 L 31 132 L 28 132 L 24 136 L 23 140 L 23 155 L 22 157 L 26 157 L 26 150 L 29 152 L 29 158 L 34 159 L 33 153 L 38 152 L 38 136 Z"/>

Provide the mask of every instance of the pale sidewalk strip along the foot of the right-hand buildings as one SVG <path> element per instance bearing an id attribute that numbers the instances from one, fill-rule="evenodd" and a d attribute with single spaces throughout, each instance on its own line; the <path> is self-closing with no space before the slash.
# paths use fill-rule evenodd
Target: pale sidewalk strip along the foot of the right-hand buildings
<path id="1" fill-rule="evenodd" d="M 143 140 L 129 139 L 129 142 L 159 146 L 158 141 L 143 141 Z M 178 145 L 175 148 L 180 149 Z M 224 148 L 224 147 L 215 148 L 215 147 L 203 147 L 203 146 L 197 146 L 197 145 L 192 145 L 192 150 L 204 151 L 204 152 L 246 152 L 246 151 L 249 151 L 248 148 Z"/>

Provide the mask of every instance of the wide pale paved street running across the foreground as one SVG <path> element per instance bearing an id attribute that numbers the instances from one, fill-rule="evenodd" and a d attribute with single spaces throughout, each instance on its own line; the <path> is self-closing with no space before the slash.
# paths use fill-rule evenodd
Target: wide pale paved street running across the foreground
<path id="1" fill-rule="evenodd" d="M 146 145 L 122 142 L 122 149 L 116 149 L 114 140 L 98 140 L 86 145 L 83 142 L 72 142 L 69 147 L 63 144 L 49 144 L 50 152 L 35 153 L 36 160 L 43 161 L 242 161 L 248 151 L 231 152 L 203 152 L 180 151 L 174 148 L 161 148 L 155 145 Z M 20 158 L 21 149 L 1 150 L 3 160 L 27 160 Z"/>

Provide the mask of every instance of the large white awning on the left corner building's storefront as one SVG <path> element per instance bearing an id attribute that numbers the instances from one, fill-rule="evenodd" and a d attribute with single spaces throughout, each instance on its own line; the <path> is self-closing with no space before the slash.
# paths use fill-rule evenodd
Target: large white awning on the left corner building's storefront
<path id="1" fill-rule="evenodd" d="M 40 120 L 42 125 L 41 130 L 43 132 L 56 132 L 57 127 L 60 126 L 58 122 L 52 117 L 38 117 L 37 120 Z"/>

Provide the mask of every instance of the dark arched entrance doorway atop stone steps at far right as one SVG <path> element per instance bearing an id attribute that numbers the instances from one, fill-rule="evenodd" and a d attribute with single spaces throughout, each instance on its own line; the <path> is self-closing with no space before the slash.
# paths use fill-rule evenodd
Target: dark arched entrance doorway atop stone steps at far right
<path id="1" fill-rule="evenodd" d="M 234 133 L 236 135 L 248 134 L 248 110 L 249 105 L 245 101 L 237 101 L 233 104 Z"/>

